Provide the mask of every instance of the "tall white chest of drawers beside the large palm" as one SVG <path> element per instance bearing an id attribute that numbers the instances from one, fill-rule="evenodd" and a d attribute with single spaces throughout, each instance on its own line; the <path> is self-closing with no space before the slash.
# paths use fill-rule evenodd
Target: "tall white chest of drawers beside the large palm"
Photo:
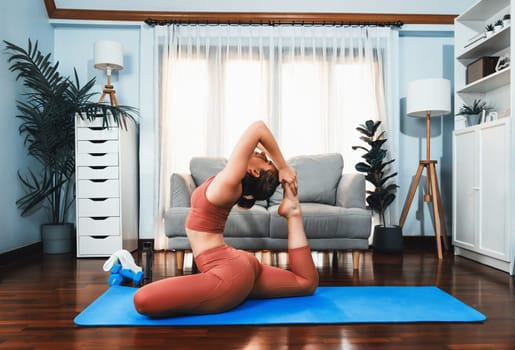
<path id="1" fill-rule="evenodd" d="M 102 127 L 77 118 L 77 257 L 109 256 L 138 245 L 136 125 Z"/>

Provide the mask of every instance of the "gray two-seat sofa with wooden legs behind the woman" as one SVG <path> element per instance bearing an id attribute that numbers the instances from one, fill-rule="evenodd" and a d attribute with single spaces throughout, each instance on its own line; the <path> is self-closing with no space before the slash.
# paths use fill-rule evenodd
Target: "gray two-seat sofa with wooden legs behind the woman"
<path id="1" fill-rule="evenodd" d="M 223 158 L 193 158 L 190 174 L 172 174 L 170 208 L 164 218 L 169 249 L 179 254 L 190 249 L 184 227 L 190 195 L 225 163 Z M 337 153 L 298 156 L 289 159 L 288 163 L 297 171 L 298 194 L 311 249 L 352 250 L 354 268 L 357 269 L 360 251 L 368 249 L 372 220 L 371 211 L 365 206 L 364 176 L 342 174 L 343 158 Z M 252 251 L 285 251 L 288 242 L 286 219 L 277 213 L 281 199 L 282 188 L 279 186 L 268 201 L 257 202 L 249 210 L 235 206 L 225 226 L 226 243 Z"/>

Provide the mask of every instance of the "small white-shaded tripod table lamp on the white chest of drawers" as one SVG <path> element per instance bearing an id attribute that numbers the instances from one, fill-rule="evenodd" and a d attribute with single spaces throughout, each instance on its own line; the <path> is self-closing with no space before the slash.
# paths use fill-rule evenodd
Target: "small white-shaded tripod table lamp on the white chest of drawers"
<path id="1" fill-rule="evenodd" d="M 123 69 L 123 48 L 115 41 L 99 40 L 95 42 L 95 68 L 105 70 L 107 73 L 107 84 L 104 86 L 98 103 L 102 103 L 109 95 L 111 106 L 118 107 L 116 91 L 111 84 L 111 72 Z"/>

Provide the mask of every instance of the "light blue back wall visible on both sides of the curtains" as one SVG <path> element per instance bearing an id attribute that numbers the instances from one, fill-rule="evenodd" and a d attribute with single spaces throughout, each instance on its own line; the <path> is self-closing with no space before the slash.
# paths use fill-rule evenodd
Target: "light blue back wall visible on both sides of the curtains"
<path id="1" fill-rule="evenodd" d="M 126 69 L 118 72 L 113 83 L 117 96 L 122 104 L 130 104 L 140 108 L 140 237 L 154 236 L 154 198 L 156 188 L 155 174 L 157 164 L 153 161 L 157 152 L 155 133 L 156 94 L 154 81 L 158 79 L 153 67 L 153 35 L 152 29 L 140 24 L 99 24 L 70 21 L 58 21 L 55 26 L 55 56 L 62 62 L 63 71 L 71 74 L 75 66 L 81 79 L 96 76 L 96 90 L 101 91 L 104 82 L 102 72 L 93 68 L 93 45 L 101 38 L 114 39 L 124 46 L 124 58 L 129 60 Z M 406 26 L 400 32 L 399 39 L 399 96 L 405 97 L 407 82 L 413 79 L 446 77 L 452 80 L 453 72 L 453 32 L 452 26 Z M 80 59 L 77 59 L 80 57 Z M 139 64 L 140 60 L 146 64 Z M 153 78 L 154 77 L 154 78 Z M 401 103 L 401 112 L 405 111 Z M 405 114 L 405 112 L 404 112 Z M 406 117 L 401 113 L 401 136 L 399 140 L 399 192 L 396 201 L 397 212 L 400 214 L 407 191 L 416 171 L 418 161 L 425 153 L 425 123 L 421 119 Z M 451 124 L 438 124 L 442 118 L 435 120 L 432 133 L 432 155 L 438 160 L 442 169 L 442 189 L 450 184 L 450 168 L 445 168 L 451 162 L 450 137 Z M 452 118 L 449 118 L 452 120 Z M 443 123 L 443 122 L 442 122 Z M 445 130 L 442 127 L 445 126 Z M 444 149 L 444 147 L 447 147 Z M 446 215 L 450 215 L 450 189 L 444 194 Z M 406 235 L 432 235 L 431 211 L 423 202 L 413 203 L 410 215 L 405 225 Z M 422 208 L 422 209 L 421 209 Z M 450 222 L 450 221 L 449 221 Z"/>

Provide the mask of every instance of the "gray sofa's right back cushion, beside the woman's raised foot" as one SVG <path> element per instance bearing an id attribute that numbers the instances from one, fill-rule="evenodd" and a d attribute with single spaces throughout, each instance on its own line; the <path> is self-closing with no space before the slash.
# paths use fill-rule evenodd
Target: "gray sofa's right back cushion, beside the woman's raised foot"
<path id="1" fill-rule="evenodd" d="M 336 188 L 342 176 L 343 157 L 339 153 L 298 156 L 288 160 L 297 171 L 299 200 L 335 205 Z M 281 203 L 283 189 L 277 188 L 270 198 L 270 205 Z"/>

